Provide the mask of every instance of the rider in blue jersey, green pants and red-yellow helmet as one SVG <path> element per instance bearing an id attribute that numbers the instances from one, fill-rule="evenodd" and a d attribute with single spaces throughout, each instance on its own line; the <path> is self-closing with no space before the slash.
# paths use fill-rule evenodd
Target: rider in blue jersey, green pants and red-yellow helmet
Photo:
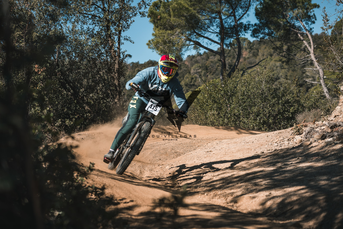
<path id="1" fill-rule="evenodd" d="M 135 83 L 144 91 L 154 90 L 159 94 L 168 93 L 168 95 L 173 93 L 179 112 L 187 113 L 189 105 L 180 82 L 176 78 L 179 75 L 177 72 L 178 68 L 179 63 L 173 55 L 164 55 L 159 59 L 158 66 L 146 68 L 129 80 L 126 83 L 126 89 L 132 89 L 131 85 Z M 116 134 L 109 152 L 104 155 L 105 163 L 112 162 L 115 150 L 126 139 L 127 135 L 131 133 L 134 126 L 138 123 L 141 112 L 145 110 L 146 105 L 149 103 L 149 100 L 141 97 L 137 90 L 134 89 L 134 91 L 136 93 L 129 103 L 127 120 Z"/>

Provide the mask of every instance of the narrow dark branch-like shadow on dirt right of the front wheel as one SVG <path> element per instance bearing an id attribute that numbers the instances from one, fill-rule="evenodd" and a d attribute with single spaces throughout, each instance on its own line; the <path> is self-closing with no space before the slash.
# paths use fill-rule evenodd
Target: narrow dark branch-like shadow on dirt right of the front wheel
<path id="1" fill-rule="evenodd" d="M 191 181 L 189 183 L 196 183 L 200 180 L 203 179 L 203 176 L 206 173 L 209 172 L 217 172 L 225 169 L 233 169 L 236 165 L 238 165 L 240 162 L 246 161 L 246 160 L 254 160 L 260 158 L 260 155 L 254 155 L 251 157 L 246 157 L 246 158 L 240 158 L 240 159 L 234 159 L 234 160 L 220 160 L 220 161 L 213 161 L 213 162 L 208 162 L 208 163 L 202 163 L 200 165 L 194 165 L 187 167 L 187 164 L 182 164 L 173 168 L 178 168 L 171 176 L 165 177 L 165 178 L 151 178 L 148 180 L 151 181 L 157 181 L 157 182 L 175 182 L 177 180 L 177 183 L 182 183 L 185 181 Z M 230 163 L 228 167 L 225 168 L 217 168 L 214 165 L 219 165 L 219 164 L 226 164 Z M 196 171 L 199 170 L 200 171 Z"/>

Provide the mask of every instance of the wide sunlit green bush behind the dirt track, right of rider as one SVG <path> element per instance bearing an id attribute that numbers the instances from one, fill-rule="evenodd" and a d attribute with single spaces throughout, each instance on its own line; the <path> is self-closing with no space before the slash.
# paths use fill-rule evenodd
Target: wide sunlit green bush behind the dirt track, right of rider
<path id="1" fill-rule="evenodd" d="M 236 72 L 230 80 L 213 80 L 200 89 L 201 96 L 189 109 L 188 123 L 252 130 L 289 128 L 297 113 L 314 107 L 319 99 L 316 95 L 310 101 L 296 78 L 292 84 L 275 85 L 273 72 L 266 66 L 253 75 Z"/>

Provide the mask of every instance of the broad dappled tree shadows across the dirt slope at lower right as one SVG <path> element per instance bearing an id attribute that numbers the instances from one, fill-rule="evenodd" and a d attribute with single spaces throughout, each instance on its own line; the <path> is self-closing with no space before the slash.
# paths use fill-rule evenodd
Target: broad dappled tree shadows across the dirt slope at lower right
<path id="1" fill-rule="evenodd" d="M 294 147 L 237 160 L 183 164 L 170 176 L 150 180 L 187 183 L 190 195 L 221 191 L 212 198 L 229 198 L 228 206 L 266 193 L 259 203 L 263 216 L 297 219 L 305 225 L 315 222 L 309 228 L 343 228 L 342 158 L 341 148 Z M 213 166 L 225 163 L 231 164 L 223 169 Z M 204 179 L 209 173 L 211 179 Z"/>

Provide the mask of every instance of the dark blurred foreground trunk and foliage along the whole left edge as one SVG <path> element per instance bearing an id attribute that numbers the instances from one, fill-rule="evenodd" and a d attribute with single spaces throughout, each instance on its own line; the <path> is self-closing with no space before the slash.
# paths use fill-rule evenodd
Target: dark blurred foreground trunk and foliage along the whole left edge
<path id="1" fill-rule="evenodd" d="M 104 206 L 117 203 L 104 196 L 104 188 L 83 182 L 88 172 L 76 164 L 70 148 L 42 147 L 44 135 L 37 125 L 42 117 L 35 120 L 27 115 L 36 93 L 30 86 L 35 77 L 32 63 L 43 64 L 51 58 L 54 49 L 50 48 L 57 45 L 57 37 L 45 33 L 51 24 L 38 20 L 39 12 L 34 11 L 42 5 L 47 17 L 54 16 L 49 15 L 51 9 L 61 7 L 52 0 L 0 1 L 1 224 L 4 228 L 104 228 L 115 223 L 114 214 L 107 214 Z M 46 30 L 37 30 L 40 26 Z M 88 169 L 92 168 L 91 164 Z"/>

